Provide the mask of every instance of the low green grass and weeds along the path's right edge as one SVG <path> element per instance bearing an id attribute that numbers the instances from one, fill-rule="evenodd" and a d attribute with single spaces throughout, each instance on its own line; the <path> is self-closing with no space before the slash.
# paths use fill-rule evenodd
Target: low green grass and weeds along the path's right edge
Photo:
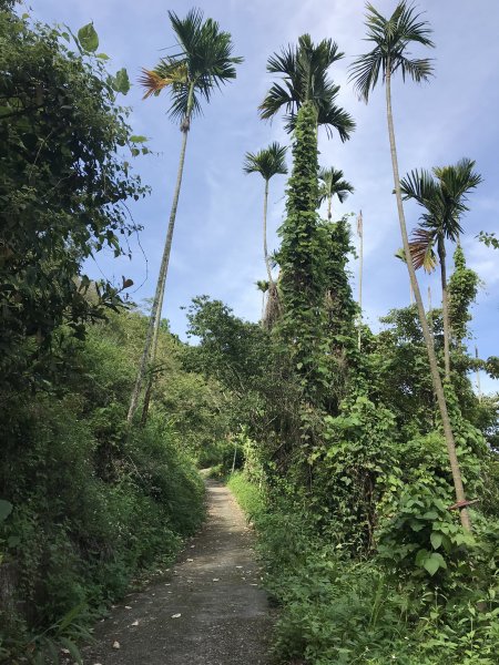
<path id="1" fill-rule="evenodd" d="M 444 592 L 353 560 L 317 536 L 288 500 L 265 498 L 244 473 L 228 487 L 255 523 L 266 587 L 279 606 L 274 656 L 309 665 L 493 665 L 499 610 L 460 587 Z"/>

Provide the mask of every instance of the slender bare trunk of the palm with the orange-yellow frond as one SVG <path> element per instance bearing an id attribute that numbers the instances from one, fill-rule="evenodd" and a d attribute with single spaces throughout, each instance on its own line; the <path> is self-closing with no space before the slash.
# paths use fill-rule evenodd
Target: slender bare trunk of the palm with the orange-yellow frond
<path id="1" fill-rule="evenodd" d="M 156 284 L 156 290 L 154 294 L 153 306 L 152 306 L 151 314 L 149 317 L 149 325 L 147 325 L 147 332 L 145 336 L 144 350 L 142 352 L 142 358 L 141 358 L 139 371 L 138 371 L 136 379 L 135 379 L 135 386 L 134 386 L 133 392 L 132 392 L 132 399 L 130 400 L 130 409 L 129 409 L 129 415 L 126 417 L 126 420 L 129 423 L 132 422 L 133 415 L 135 413 L 135 410 L 136 410 L 136 407 L 139 403 L 139 397 L 141 393 L 142 383 L 144 382 L 145 372 L 147 370 L 147 359 L 150 357 L 151 350 L 152 350 L 152 361 L 154 361 L 154 357 L 155 357 L 155 348 L 152 349 L 152 347 L 153 347 L 152 342 L 153 342 L 154 330 L 155 330 L 155 328 L 159 328 L 159 326 L 160 326 L 161 313 L 160 313 L 160 317 L 157 317 L 157 309 L 160 307 L 160 300 L 161 301 L 163 300 L 164 287 L 166 284 L 166 274 L 167 274 L 169 263 L 170 263 L 170 253 L 172 249 L 173 229 L 175 227 L 176 208 L 179 205 L 179 196 L 180 196 L 180 191 L 181 191 L 181 186 L 182 186 L 182 175 L 183 175 L 183 171 L 184 171 L 185 149 L 187 146 L 187 135 L 189 135 L 189 129 L 190 129 L 193 98 L 194 98 L 194 86 L 193 86 L 193 84 L 191 84 L 191 88 L 189 90 L 187 110 L 186 110 L 185 117 L 181 125 L 182 134 L 183 134 L 182 146 L 181 146 L 181 153 L 180 153 L 180 160 L 179 160 L 179 171 L 177 171 L 177 175 L 176 175 L 175 192 L 173 195 L 172 209 L 170 212 L 169 229 L 166 233 L 166 241 L 165 241 L 165 245 L 164 245 L 164 249 L 163 249 L 163 257 L 161 259 L 160 275 L 157 277 L 157 284 Z M 156 319 L 157 319 L 157 323 L 156 323 Z M 157 337 L 156 337 L 156 344 L 157 344 Z"/>

